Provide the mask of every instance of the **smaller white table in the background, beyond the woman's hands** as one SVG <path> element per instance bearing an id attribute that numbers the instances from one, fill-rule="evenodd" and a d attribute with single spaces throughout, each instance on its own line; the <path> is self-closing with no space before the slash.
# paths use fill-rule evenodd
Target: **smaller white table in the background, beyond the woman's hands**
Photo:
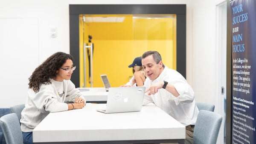
<path id="1" fill-rule="evenodd" d="M 87 103 L 106 103 L 108 99 L 108 92 L 106 92 L 105 87 L 86 87 L 79 89 L 89 89 L 88 91 L 82 91 L 81 94 L 84 95 Z"/>

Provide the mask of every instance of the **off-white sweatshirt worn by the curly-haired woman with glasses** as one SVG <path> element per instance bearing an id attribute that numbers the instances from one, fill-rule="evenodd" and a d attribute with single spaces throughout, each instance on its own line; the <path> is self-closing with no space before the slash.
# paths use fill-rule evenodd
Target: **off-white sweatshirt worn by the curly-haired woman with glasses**
<path id="1" fill-rule="evenodd" d="M 32 132 L 49 112 L 66 111 L 68 106 L 64 101 L 75 101 L 77 97 L 84 99 L 70 80 L 51 81 L 52 84 L 41 84 L 39 92 L 28 90 L 25 108 L 21 112 L 21 131 Z"/>

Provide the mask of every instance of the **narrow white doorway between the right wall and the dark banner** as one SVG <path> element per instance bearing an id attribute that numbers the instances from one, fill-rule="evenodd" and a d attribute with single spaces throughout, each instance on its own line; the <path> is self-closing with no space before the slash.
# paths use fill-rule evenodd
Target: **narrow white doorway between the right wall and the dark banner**
<path id="1" fill-rule="evenodd" d="M 217 78 L 217 97 L 216 97 L 216 111 L 222 115 L 222 124 L 218 135 L 219 144 L 226 143 L 226 89 L 227 89 L 227 2 L 224 1 L 216 6 L 217 19 L 217 60 L 218 60 L 218 76 Z"/>

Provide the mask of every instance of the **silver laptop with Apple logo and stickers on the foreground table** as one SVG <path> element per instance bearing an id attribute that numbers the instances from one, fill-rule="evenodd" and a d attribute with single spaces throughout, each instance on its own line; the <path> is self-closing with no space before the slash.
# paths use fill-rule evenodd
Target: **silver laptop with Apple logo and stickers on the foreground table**
<path id="1" fill-rule="evenodd" d="M 106 109 L 96 109 L 103 113 L 137 112 L 143 105 L 144 86 L 111 87 L 108 91 Z"/>

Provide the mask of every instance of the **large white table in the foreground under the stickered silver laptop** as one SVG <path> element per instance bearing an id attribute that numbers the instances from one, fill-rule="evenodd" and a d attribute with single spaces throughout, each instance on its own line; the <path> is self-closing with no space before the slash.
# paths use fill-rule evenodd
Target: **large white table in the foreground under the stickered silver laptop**
<path id="1" fill-rule="evenodd" d="M 50 113 L 33 130 L 34 143 L 184 143 L 185 127 L 154 104 L 140 112 L 96 111 L 105 106 L 89 103 L 83 109 Z"/>

